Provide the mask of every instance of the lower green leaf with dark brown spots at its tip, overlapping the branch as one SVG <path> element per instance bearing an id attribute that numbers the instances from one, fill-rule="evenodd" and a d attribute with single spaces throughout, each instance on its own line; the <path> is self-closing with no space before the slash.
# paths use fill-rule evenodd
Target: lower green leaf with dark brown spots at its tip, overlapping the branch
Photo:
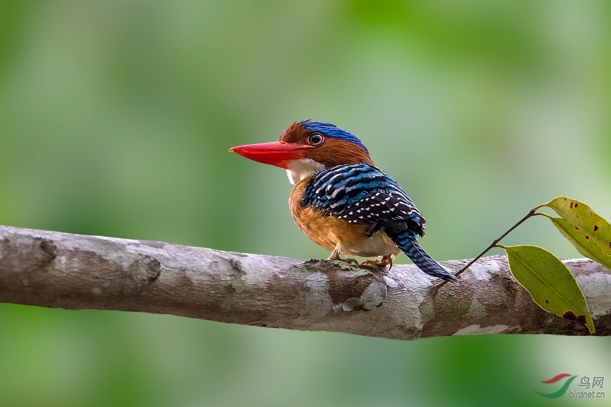
<path id="1" fill-rule="evenodd" d="M 591 334 L 594 333 L 584 293 L 562 261 L 536 246 L 499 246 L 507 251 L 511 274 L 528 290 L 538 306 L 560 317 L 581 322 Z"/>

